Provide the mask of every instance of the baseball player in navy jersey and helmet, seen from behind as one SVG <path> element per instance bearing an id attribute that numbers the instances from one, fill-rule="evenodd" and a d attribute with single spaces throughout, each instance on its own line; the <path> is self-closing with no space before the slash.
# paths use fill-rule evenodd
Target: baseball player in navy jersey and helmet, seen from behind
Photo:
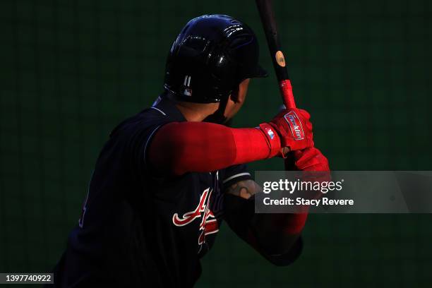
<path id="1" fill-rule="evenodd" d="M 328 161 L 304 110 L 224 125 L 249 80 L 264 76 L 251 28 L 223 15 L 190 20 L 169 51 L 162 94 L 100 152 L 54 286 L 192 287 L 222 222 L 271 263 L 292 263 L 307 214 L 255 214 L 261 188 L 245 164 L 289 151 L 291 169 L 328 171 Z"/>

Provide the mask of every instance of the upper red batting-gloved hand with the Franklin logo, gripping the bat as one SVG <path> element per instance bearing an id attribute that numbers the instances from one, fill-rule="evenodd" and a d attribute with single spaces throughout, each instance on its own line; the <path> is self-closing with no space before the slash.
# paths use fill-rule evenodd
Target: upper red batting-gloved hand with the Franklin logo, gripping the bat
<path id="1" fill-rule="evenodd" d="M 313 147 L 311 115 L 302 109 L 283 109 L 268 123 L 280 137 L 281 154 Z M 261 124 L 263 125 L 263 124 Z M 261 127 L 263 128 L 263 127 Z M 284 149 L 288 148 L 288 149 Z"/>

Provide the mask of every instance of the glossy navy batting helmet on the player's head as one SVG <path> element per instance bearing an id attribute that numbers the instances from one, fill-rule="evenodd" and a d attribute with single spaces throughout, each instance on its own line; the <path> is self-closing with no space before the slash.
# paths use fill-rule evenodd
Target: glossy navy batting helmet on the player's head
<path id="1" fill-rule="evenodd" d="M 226 15 L 190 20 L 172 44 L 164 88 L 178 100 L 223 102 L 246 78 L 265 77 L 256 35 Z"/>

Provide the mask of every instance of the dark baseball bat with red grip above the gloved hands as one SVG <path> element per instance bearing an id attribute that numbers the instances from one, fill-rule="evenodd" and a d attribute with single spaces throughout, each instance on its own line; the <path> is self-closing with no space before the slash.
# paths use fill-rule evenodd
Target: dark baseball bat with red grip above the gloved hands
<path id="1" fill-rule="evenodd" d="M 282 101 L 287 108 L 295 108 L 294 95 L 292 94 L 291 80 L 289 80 L 288 69 L 285 64 L 284 54 L 277 35 L 275 13 L 272 7 L 272 0 L 256 0 L 256 6 L 260 13 L 261 23 L 267 39 L 268 49 L 272 57 L 273 67 L 279 83 Z"/>

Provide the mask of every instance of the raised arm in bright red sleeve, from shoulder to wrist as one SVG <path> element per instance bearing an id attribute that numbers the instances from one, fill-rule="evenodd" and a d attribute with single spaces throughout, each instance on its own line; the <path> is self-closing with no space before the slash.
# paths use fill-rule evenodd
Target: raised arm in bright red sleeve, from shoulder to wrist
<path id="1" fill-rule="evenodd" d="M 280 140 L 275 139 L 270 145 L 258 128 L 181 122 L 166 124 L 157 131 L 150 143 L 148 159 L 161 172 L 181 175 L 274 157 L 279 150 Z"/>

